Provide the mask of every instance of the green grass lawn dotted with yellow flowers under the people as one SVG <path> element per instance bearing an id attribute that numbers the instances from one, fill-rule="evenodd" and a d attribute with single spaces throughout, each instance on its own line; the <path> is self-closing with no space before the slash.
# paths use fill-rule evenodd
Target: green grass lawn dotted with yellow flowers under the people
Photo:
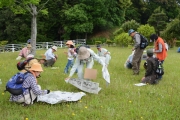
<path id="1" fill-rule="evenodd" d="M 131 48 L 106 47 L 112 59 L 108 70 L 111 83 L 107 87 L 102 78 L 101 65 L 95 62 L 94 68 L 98 69 L 96 82 L 100 83 L 102 90 L 98 95 L 86 93 L 78 102 L 59 103 L 50 105 L 37 102 L 29 107 L 9 102 L 10 94 L 4 95 L 6 82 L 16 72 L 18 52 L 0 53 L 0 119 L 1 120 L 179 120 L 179 53 L 177 48 L 168 51 L 164 62 L 165 75 L 157 85 L 134 86 L 139 83 L 144 75 L 143 63 L 139 76 L 133 76 L 132 70 L 124 68 L 124 62 Z M 96 51 L 95 48 L 92 48 Z M 54 65 L 59 69 L 43 68 L 44 72 L 38 83 L 42 89 L 79 92 L 80 90 L 64 82 L 68 76 L 63 73 L 67 59 L 64 55 L 66 49 L 58 49 L 59 56 Z M 38 50 L 43 54 L 45 50 Z M 75 74 L 73 77 L 77 77 Z"/>

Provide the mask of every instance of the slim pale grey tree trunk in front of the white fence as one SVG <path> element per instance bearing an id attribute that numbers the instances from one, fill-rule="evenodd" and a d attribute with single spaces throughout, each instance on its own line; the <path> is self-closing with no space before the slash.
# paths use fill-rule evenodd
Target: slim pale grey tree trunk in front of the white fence
<path id="1" fill-rule="evenodd" d="M 32 9 L 32 20 L 31 20 L 31 45 L 32 54 L 36 54 L 36 38 L 37 38 L 37 7 L 35 5 L 31 6 Z"/>

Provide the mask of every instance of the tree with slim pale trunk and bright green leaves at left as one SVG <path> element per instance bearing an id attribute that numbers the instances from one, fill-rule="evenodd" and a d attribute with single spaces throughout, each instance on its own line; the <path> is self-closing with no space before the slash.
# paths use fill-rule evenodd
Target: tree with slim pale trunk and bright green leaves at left
<path id="1" fill-rule="evenodd" d="M 31 19 L 31 45 L 32 45 L 32 54 L 35 55 L 36 52 L 36 38 L 37 38 L 37 15 L 39 12 L 47 15 L 48 12 L 46 9 L 43 9 L 44 6 L 48 3 L 47 0 L 44 3 L 41 3 L 41 0 L 2 0 L 0 2 L 0 7 L 7 6 L 15 14 L 24 14 L 29 12 L 32 15 Z M 39 10 L 37 9 L 39 7 Z"/>

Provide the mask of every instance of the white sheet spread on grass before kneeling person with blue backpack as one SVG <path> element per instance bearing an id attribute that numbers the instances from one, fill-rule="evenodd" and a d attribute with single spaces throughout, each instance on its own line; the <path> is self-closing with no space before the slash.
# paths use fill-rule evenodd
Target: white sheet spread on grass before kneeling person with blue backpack
<path id="1" fill-rule="evenodd" d="M 52 91 L 46 95 L 40 95 L 37 97 L 37 101 L 46 102 L 49 104 L 57 104 L 62 102 L 78 101 L 86 94 L 84 92 L 63 92 Z"/>

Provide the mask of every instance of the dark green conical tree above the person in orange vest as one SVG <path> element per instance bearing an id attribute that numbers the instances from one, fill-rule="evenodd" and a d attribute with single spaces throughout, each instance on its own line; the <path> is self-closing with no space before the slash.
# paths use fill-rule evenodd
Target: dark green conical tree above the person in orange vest
<path id="1" fill-rule="evenodd" d="M 154 13 L 148 19 L 149 25 L 155 28 L 155 31 L 158 35 L 160 35 L 160 31 L 163 31 L 163 29 L 166 27 L 166 22 L 167 16 L 163 10 L 161 10 L 161 7 L 155 9 Z"/>

